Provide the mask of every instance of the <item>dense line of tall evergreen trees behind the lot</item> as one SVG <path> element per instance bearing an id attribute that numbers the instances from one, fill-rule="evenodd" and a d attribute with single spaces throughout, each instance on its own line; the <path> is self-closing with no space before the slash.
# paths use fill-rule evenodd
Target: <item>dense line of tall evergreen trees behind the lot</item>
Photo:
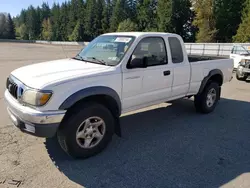
<path id="1" fill-rule="evenodd" d="M 4 17 L 0 38 L 13 38 L 6 33 L 14 29 L 18 39 L 56 41 L 160 31 L 177 33 L 185 42 L 250 42 L 250 0 L 71 0 L 52 7 L 31 5 L 13 21 Z"/>

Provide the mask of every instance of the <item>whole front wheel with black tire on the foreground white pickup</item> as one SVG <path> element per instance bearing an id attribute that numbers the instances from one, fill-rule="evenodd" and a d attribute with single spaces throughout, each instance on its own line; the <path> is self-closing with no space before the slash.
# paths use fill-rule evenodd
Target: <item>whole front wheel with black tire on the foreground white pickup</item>
<path id="1" fill-rule="evenodd" d="M 58 130 L 62 149 L 74 158 L 88 158 L 104 150 L 114 134 L 114 117 L 103 105 L 75 107 Z"/>

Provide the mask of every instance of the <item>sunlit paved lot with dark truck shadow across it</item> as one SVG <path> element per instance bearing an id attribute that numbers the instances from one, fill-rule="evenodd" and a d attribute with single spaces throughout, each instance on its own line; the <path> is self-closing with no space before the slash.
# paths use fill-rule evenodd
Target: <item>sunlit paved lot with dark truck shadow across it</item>
<path id="1" fill-rule="evenodd" d="M 235 79 L 209 115 L 181 100 L 123 116 L 123 137 L 87 160 L 72 160 L 54 139 L 20 133 L 4 106 L 6 77 L 79 49 L 0 43 L 0 187 L 250 187 L 250 83 Z"/>

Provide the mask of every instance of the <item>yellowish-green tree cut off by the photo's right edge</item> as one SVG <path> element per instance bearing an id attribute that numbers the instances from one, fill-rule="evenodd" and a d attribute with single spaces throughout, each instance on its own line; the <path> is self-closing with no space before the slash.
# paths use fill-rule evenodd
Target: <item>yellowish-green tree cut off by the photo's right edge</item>
<path id="1" fill-rule="evenodd" d="M 237 30 L 237 34 L 233 37 L 234 42 L 250 42 L 250 0 L 246 0 L 242 13 L 242 22 Z"/>

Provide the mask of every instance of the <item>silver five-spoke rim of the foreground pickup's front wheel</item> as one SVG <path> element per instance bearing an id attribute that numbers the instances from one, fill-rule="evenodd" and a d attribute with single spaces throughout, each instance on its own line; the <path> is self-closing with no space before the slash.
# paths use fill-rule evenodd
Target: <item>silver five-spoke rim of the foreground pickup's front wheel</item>
<path id="1" fill-rule="evenodd" d="M 76 131 L 76 142 L 81 148 L 90 149 L 99 144 L 106 131 L 106 125 L 100 117 L 89 117 Z"/>

